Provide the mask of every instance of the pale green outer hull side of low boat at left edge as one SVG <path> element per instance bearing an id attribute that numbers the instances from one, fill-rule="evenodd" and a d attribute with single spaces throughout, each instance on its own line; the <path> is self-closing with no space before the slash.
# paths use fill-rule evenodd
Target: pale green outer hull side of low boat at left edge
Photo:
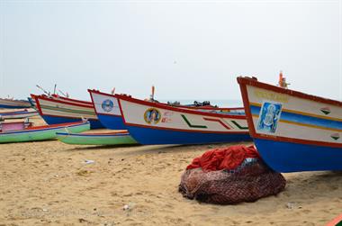
<path id="1" fill-rule="evenodd" d="M 73 125 L 63 124 L 40 130 L 7 131 L 0 133 L 0 143 L 27 142 L 39 140 L 53 140 L 57 138 L 56 132 L 82 132 L 90 129 L 89 122 L 76 123 Z"/>

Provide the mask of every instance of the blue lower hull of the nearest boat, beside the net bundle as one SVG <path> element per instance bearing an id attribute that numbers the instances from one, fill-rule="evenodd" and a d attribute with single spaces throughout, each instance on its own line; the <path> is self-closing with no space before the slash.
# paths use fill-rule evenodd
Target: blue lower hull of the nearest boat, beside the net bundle
<path id="1" fill-rule="evenodd" d="M 277 172 L 342 170 L 342 149 L 323 146 L 254 140 L 269 167 Z"/>

